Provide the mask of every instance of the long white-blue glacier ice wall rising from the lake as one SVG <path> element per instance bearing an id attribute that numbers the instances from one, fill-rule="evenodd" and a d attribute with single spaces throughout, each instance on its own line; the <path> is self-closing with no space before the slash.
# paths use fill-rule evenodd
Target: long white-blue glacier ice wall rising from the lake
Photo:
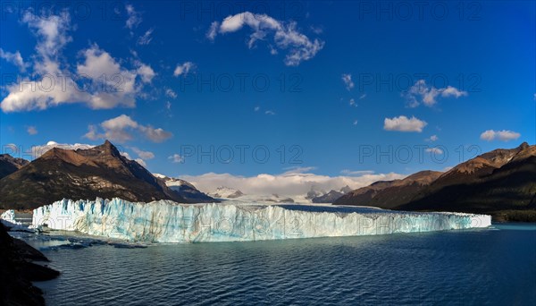
<path id="1" fill-rule="evenodd" d="M 491 217 L 332 205 L 227 201 L 179 204 L 58 200 L 33 211 L 33 228 L 78 231 L 130 242 L 239 242 L 417 233 L 487 227 Z"/>

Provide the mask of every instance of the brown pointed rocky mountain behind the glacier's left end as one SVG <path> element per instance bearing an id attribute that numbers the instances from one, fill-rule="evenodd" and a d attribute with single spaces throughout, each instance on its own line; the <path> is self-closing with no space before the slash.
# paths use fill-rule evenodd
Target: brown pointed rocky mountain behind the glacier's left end
<path id="1" fill-rule="evenodd" d="M 13 157 L 12 157 L 13 158 Z M 11 158 L 4 158 L 10 160 Z M 15 163 L 25 164 L 17 161 Z M 13 165 L 2 165 L 6 172 Z M 10 170 L 11 169 L 11 170 Z M 46 151 L 41 157 L 20 166 L 0 180 L 0 208 L 29 209 L 55 200 L 112 199 L 131 201 L 174 200 L 182 203 L 214 201 L 206 195 L 176 191 L 156 178 L 136 161 L 123 157 L 113 144 L 90 149 L 59 149 Z M 201 192 L 200 192 L 201 193 Z"/>

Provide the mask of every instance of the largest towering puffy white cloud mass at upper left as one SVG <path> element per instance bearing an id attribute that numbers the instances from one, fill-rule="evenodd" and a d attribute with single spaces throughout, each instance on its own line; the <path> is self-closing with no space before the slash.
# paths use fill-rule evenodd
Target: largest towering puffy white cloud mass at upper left
<path id="1" fill-rule="evenodd" d="M 96 44 L 80 51 L 80 63 L 65 64 L 63 47 L 72 40 L 70 21 L 67 12 L 46 18 L 31 12 L 24 14 L 22 22 L 38 38 L 37 54 L 32 56 L 33 72 L 22 75 L 20 84 L 6 87 L 8 94 L 0 104 L 4 113 L 70 103 L 83 103 L 93 109 L 135 106 L 141 83 L 150 82 L 155 72 L 138 62 L 137 69 L 122 67 L 120 61 Z M 137 84 L 138 76 L 141 83 Z"/>

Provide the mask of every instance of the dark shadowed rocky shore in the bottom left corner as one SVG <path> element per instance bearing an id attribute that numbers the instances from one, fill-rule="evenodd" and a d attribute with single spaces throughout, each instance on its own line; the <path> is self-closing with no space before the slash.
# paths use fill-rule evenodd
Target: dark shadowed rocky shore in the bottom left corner
<path id="1" fill-rule="evenodd" d="M 60 273 L 33 261 L 48 261 L 40 251 L 7 234 L 0 224 L 0 305 L 45 305 L 34 281 L 54 279 Z"/>

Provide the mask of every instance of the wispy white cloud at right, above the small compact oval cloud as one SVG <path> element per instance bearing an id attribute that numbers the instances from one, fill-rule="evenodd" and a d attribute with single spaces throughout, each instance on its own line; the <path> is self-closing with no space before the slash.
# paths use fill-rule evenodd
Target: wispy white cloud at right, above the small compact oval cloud
<path id="1" fill-rule="evenodd" d="M 438 97 L 443 98 L 460 98 L 467 96 L 467 91 L 456 89 L 452 86 L 436 89 L 433 86 L 428 86 L 426 81 L 419 80 L 402 94 L 406 97 L 408 106 L 416 107 L 423 103 L 425 106 L 434 106 L 437 103 Z"/>

